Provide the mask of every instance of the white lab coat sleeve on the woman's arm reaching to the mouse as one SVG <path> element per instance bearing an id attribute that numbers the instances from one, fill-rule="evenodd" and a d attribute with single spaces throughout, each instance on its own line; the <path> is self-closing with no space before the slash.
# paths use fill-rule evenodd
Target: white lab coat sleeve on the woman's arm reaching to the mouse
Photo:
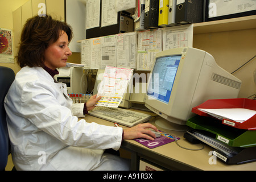
<path id="1" fill-rule="evenodd" d="M 22 89 L 20 113 L 39 130 L 69 146 L 119 149 L 122 128 L 78 121 L 71 109 L 63 106 L 65 98 L 57 98 L 56 93 L 56 88 L 39 81 L 27 84 Z"/>

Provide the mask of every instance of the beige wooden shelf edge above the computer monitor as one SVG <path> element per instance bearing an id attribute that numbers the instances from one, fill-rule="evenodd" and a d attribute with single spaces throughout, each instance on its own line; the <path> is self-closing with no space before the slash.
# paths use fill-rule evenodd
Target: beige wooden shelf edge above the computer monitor
<path id="1" fill-rule="evenodd" d="M 194 24 L 194 34 L 246 30 L 256 28 L 256 15 Z"/>

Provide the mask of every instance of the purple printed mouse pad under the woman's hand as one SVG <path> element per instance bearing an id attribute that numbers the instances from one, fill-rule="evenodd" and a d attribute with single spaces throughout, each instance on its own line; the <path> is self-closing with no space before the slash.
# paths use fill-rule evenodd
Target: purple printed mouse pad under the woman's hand
<path id="1" fill-rule="evenodd" d="M 134 139 L 134 140 L 136 142 L 139 142 L 139 143 L 143 144 L 143 146 L 146 146 L 148 148 L 159 147 L 159 146 L 162 146 L 164 144 L 171 143 L 171 142 L 175 141 L 174 138 L 172 138 L 171 135 L 169 135 L 167 133 L 164 133 L 163 131 L 160 131 L 160 133 L 161 133 L 161 137 L 155 138 L 154 141 L 144 139 L 144 138 L 137 138 L 137 139 Z M 180 138 L 175 137 L 175 139 L 179 140 Z"/>

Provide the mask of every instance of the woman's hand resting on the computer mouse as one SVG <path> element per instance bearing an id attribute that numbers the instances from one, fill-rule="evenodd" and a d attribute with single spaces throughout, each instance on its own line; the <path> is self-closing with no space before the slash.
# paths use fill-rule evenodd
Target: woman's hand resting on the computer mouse
<path id="1" fill-rule="evenodd" d="M 145 138 L 148 140 L 154 140 L 155 134 L 148 130 L 149 128 L 158 131 L 158 129 L 151 125 L 150 123 L 142 123 L 134 127 L 123 130 L 123 139 L 135 139 L 135 138 Z M 152 137 L 148 136 L 151 135 Z"/>

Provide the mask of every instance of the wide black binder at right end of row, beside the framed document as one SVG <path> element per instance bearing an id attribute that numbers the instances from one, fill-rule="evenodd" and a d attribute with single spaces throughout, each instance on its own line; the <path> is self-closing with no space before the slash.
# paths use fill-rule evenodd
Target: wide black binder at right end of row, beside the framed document
<path id="1" fill-rule="evenodd" d="M 179 24 L 203 22 L 204 0 L 177 1 L 175 21 Z"/>

